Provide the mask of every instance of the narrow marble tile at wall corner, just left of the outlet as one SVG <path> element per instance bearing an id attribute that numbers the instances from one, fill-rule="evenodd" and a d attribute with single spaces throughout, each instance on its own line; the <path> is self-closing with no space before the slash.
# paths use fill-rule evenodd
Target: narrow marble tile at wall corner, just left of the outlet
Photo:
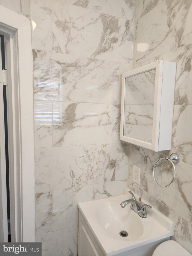
<path id="1" fill-rule="evenodd" d="M 115 180 L 128 178 L 128 153 L 129 144 L 120 140 L 117 143 Z"/>

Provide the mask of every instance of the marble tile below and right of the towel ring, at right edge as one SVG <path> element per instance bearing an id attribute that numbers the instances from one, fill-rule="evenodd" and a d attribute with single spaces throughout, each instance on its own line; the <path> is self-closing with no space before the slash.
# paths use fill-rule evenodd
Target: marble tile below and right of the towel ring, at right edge
<path id="1" fill-rule="evenodd" d="M 171 165 L 162 171 L 162 184 L 173 178 Z M 176 178 L 173 184 L 161 189 L 161 202 L 192 223 L 192 166 L 183 162 L 176 164 Z"/>

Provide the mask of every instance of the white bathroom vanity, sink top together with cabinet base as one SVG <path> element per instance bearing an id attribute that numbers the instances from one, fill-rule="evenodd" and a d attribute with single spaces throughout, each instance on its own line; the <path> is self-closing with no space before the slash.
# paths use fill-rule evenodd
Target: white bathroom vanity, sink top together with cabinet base
<path id="1" fill-rule="evenodd" d="M 129 198 L 126 189 L 121 196 L 78 204 L 78 256 L 152 255 L 160 242 L 170 239 L 172 221 L 154 208 L 147 209 L 147 218 L 137 215 L 131 204 L 121 208 L 120 203 Z M 120 236 L 122 230 L 128 233 L 127 237 Z"/>

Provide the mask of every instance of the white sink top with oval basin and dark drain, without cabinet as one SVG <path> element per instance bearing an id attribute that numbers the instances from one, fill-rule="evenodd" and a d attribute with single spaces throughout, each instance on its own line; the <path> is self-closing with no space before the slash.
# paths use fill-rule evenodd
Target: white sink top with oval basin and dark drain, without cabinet
<path id="1" fill-rule="evenodd" d="M 121 196 L 78 204 L 104 255 L 116 255 L 173 235 L 173 222 L 158 210 L 147 209 L 147 218 L 141 218 L 130 208 L 131 204 L 122 208 L 120 203 L 129 198 L 126 189 L 126 193 Z M 145 200 L 141 202 L 147 203 Z M 122 230 L 128 236 L 120 236 Z"/>

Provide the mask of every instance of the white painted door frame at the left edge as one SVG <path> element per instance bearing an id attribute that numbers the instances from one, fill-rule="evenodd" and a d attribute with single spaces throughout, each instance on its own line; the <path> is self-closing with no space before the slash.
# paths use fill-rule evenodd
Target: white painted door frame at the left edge
<path id="1" fill-rule="evenodd" d="M 33 69 L 29 20 L 0 6 L 6 37 L 12 242 L 35 242 Z"/>

